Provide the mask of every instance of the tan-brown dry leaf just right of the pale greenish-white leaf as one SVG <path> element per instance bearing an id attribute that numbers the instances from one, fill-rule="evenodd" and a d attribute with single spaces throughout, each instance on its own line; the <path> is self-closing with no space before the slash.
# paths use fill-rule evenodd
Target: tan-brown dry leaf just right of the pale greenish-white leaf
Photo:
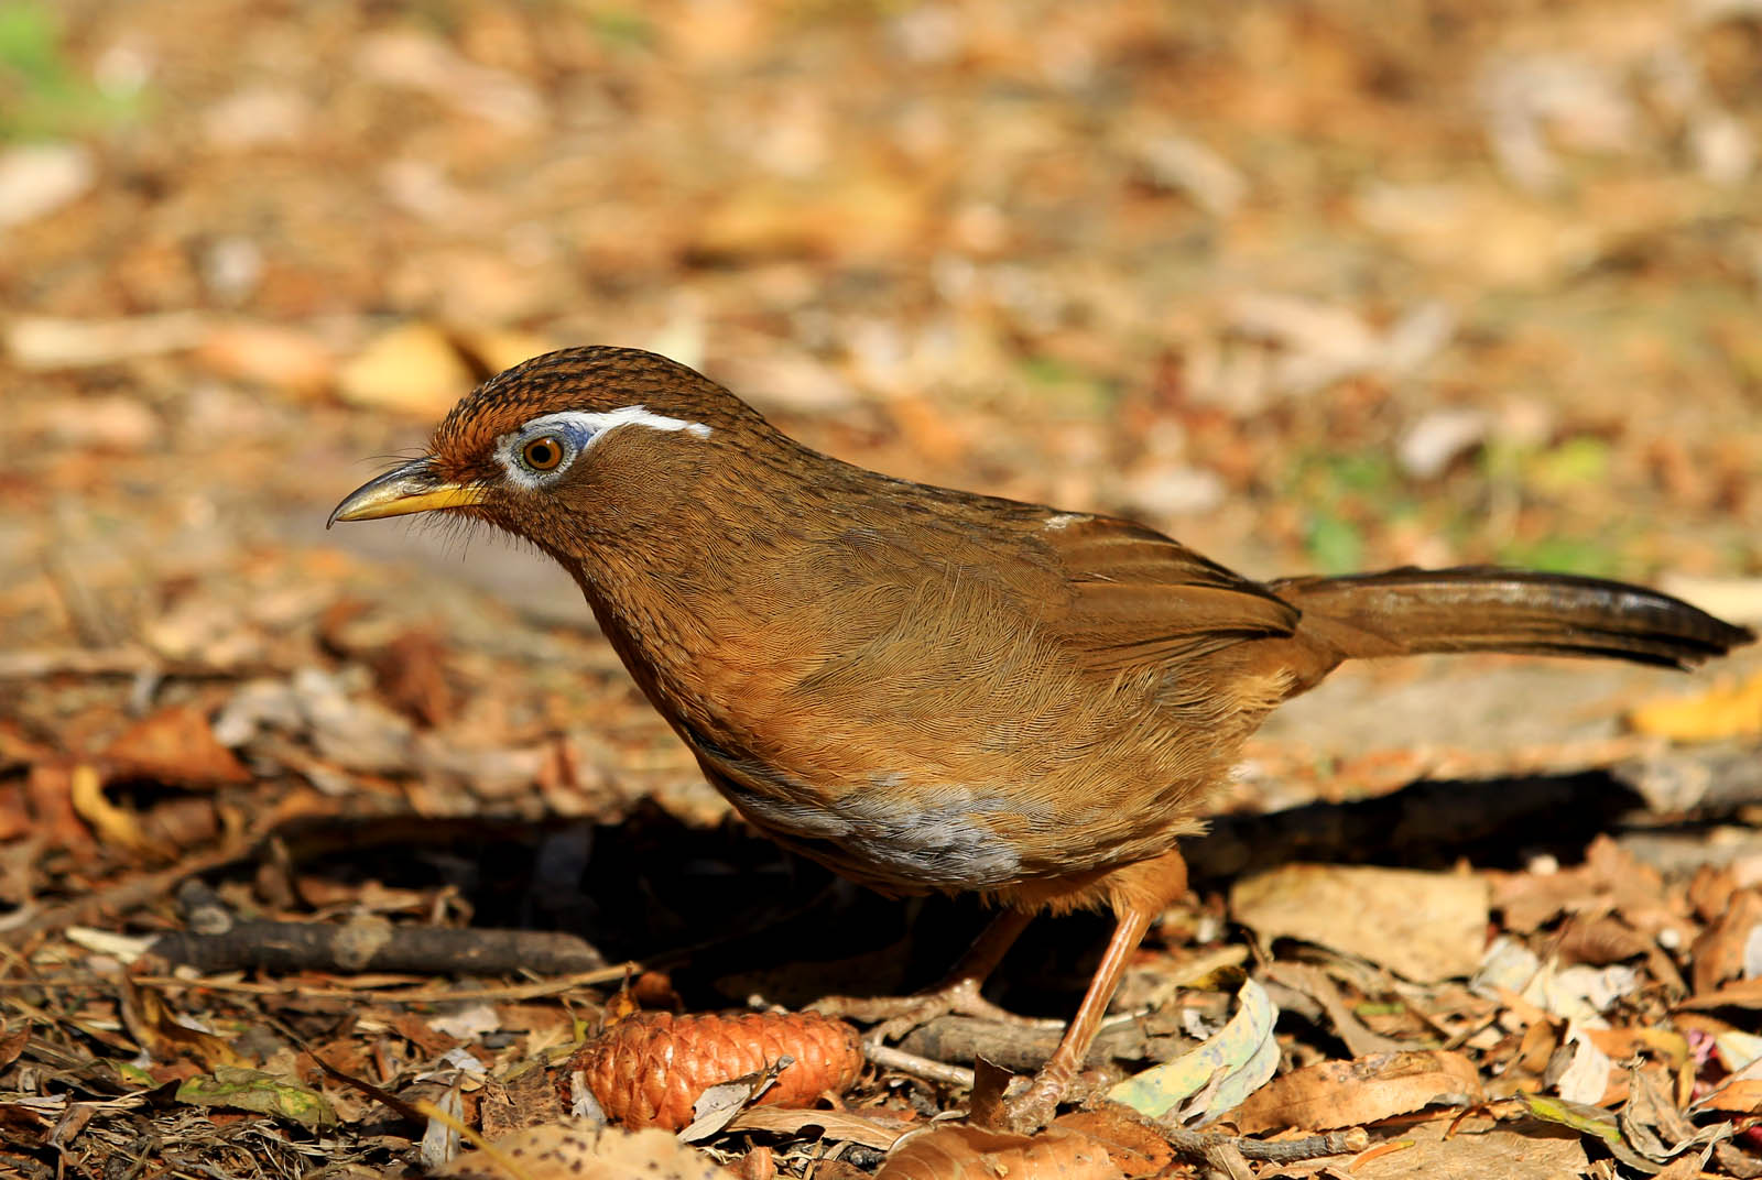
<path id="1" fill-rule="evenodd" d="M 1459 1053 L 1378 1053 L 1274 1078 L 1230 1118 L 1246 1134 L 1283 1127 L 1329 1131 L 1425 1106 L 1475 1106 L 1484 1099 L 1480 1074 Z"/>

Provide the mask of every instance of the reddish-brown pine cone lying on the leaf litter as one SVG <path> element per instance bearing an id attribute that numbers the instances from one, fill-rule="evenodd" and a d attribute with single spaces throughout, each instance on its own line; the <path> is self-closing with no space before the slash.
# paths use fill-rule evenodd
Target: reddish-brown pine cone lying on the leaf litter
<path id="1" fill-rule="evenodd" d="M 758 1097 L 758 1106 L 805 1106 L 826 1090 L 844 1092 L 863 1067 L 856 1030 L 830 1016 L 638 1013 L 576 1050 L 559 1088 L 567 1104 L 569 1078 L 581 1071 L 613 1122 L 678 1131 L 691 1124 L 700 1094 L 758 1073 L 784 1053 L 795 1064 Z"/>

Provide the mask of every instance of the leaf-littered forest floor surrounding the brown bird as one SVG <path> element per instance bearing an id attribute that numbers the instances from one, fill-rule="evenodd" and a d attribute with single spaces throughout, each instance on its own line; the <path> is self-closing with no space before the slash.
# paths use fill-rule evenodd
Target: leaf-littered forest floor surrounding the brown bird
<path id="1" fill-rule="evenodd" d="M 1251 576 L 1503 562 L 1762 623 L 1755 4 L 0 0 L 0 1175 L 414 1175 L 437 1111 L 569 1115 L 633 1006 L 782 1021 L 981 925 L 731 819 L 532 553 L 324 530 L 552 347 Z M 1191 844 L 1096 1078 L 1348 1134 L 1040 1143 L 1762 1175 L 1758 766 L 1753 648 L 1343 671 Z M 1103 932 L 1038 923 L 990 995 L 1068 1016 Z M 883 1164 L 969 1088 L 839 1087 L 618 1143 L 1073 1166 Z"/>

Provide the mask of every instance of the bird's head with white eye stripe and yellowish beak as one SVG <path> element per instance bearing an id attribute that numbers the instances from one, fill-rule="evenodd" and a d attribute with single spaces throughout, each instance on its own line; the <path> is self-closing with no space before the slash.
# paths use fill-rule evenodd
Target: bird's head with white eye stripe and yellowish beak
<path id="1" fill-rule="evenodd" d="M 737 396 L 663 356 L 564 349 L 478 386 L 426 454 L 351 491 L 329 523 L 446 513 L 580 551 L 705 495 L 707 476 L 770 433 Z"/>

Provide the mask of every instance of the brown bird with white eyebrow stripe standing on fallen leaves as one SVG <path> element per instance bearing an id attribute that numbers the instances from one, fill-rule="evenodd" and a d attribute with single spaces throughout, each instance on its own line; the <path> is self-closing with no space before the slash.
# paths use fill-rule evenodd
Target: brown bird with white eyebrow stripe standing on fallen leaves
<path id="1" fill-rule="evenodd" d="M 1126 960 L 1186 891 L 1249 733 L 1341 660 L 1598 655 L 1686 667 L 1755 636 L 1596 578 L 1471 567 L 1253 581 L 1112 516 L 930 488 L 811 451 L 650 352 L 485 382 L 331 521 L 444 511 L 574 576 L 703 773 L 756 828 L 885 893 L 1003 907 L 943 997 L 1038 911 L 1115 933 L 1015 1103 L 1050 1117 Z"/>

